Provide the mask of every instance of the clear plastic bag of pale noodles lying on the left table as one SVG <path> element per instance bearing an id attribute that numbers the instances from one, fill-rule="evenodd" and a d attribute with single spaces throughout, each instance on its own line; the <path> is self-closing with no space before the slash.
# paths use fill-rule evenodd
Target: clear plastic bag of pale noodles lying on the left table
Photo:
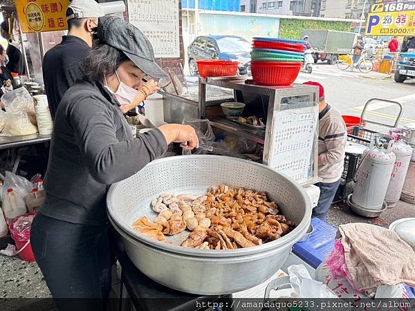
<path id="1" fill-rule="evenodd" d="M 23 111 L 6 112 L 4 114 L 6 124 L 4 125 L 2 136 L 20 136 L 37 133 L 37 127 L 30 122 L 27 113 Z"/>

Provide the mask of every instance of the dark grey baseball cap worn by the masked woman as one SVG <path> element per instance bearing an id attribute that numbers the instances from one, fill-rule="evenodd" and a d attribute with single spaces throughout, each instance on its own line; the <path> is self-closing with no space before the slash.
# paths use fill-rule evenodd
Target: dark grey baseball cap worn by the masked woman
<path id="1" fill-rule="evenodd" d="M 155 78 L 167 77 L 156 64 L 149 39 L 131 23 L 120 17 L 101 17 L 98 22 L 98 38 L 100 43 L 121 50 L 146 75 Z"/>

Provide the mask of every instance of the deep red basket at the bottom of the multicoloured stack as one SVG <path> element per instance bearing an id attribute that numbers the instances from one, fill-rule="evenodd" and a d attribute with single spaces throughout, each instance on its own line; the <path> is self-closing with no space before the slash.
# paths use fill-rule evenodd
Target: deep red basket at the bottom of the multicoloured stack
<path id="1" fill-rule="evenodd" d="M 275 62 L 252 62 L 254 82 L 266 86 L 287 86 L 297 79 L 302 63 L 273 64 Z"/>

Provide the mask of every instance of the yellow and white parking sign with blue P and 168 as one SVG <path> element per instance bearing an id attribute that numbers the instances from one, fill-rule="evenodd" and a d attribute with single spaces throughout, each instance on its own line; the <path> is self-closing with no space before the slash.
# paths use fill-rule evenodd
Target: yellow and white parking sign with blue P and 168
<path id="1" fill-rule="evenodd" d="M 366 35 L 415 35 L 415 1 L 372 5 L 367 15 Z"/>

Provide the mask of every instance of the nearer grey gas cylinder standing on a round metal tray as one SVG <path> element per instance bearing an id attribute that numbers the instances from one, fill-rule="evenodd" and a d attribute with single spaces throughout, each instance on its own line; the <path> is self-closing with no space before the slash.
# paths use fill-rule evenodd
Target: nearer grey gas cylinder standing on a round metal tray
<path id="1" fill-rule="evenodd" d="M 363 152 L 356 172 L 356 185 L 351 196 L 354 205 L 373 211 L 383 209 L 395 160 L 396 156 L 391 152 L 391 143 L 385 149 L 376 137 L 374 145 Z"/>

